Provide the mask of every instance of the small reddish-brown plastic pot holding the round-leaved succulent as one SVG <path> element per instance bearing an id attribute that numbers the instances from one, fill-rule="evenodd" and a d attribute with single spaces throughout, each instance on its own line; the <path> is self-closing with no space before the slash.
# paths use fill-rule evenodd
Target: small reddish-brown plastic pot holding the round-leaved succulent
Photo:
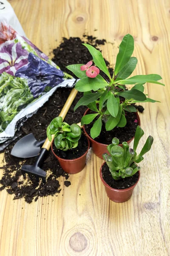
<path id="1" fill-rule="evenodd" d="M 88 138 L 87 138 L 88 140 Z M 88 149 L 87 151 L 85 152 L 85 154 L 83 154 L 81 157 L 78 157 L 76 159 L 73 159 L 73 160 L 68 160 L 68 159 L 63 159 L 61 157 L 58 157 L 55 153 L 54 153 L 54 150 L 53 150 L 53 143 L 51 144 L 51 150 L 54 154 L 54 156 L 58 159 L 59 161 L 59 164 L 61 166 L 61 168 L 69 173 L 69 174 L 76 174 L 78 172 L 81 172 L 82 169 L 84 169 L 85 167 L 85 160 L 86 160 L 86 155 L 88 153 L 88 150 L 90 148 L 90 142 L 88 140 Z"/>

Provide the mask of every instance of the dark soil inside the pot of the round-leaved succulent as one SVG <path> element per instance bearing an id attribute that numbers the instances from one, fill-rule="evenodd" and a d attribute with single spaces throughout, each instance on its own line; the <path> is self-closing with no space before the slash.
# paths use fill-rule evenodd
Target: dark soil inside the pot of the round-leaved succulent
<path id="1" fill-rule="evenodd" d="M 71 148 L 70 150 L 63 151 L 57 149 L 53 144 L 53 150 L 58 157 L 67 160 L 73 160 L 85 154 L 85 152 L 88 150 L 88 140 L 87 137 L 84 134 L 82 134 L 81 138 L 79 139 L 79 144 L 77 148 Z"/>

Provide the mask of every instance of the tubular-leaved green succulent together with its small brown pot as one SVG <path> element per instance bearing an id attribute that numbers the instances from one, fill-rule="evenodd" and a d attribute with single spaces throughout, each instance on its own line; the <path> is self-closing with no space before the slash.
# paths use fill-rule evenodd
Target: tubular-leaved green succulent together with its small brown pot
<path id="1" fill-rule="evenodd" d="M 153 137 L 149 136 L 141 152 L 136 154 L 139 140 L 144 135 L 144 131 L 138 125 L 135 132 L 133 148 L 129 148 L 127 142 L 123 142 L 123 147 L 118 146 L 119 140 L 115 137 L 112 144 L 108 145 L 108 152 L 103 154 L 105 162 L 100 168 L 100 178 L 105 186 L 108 198 L 116 203 L 123 203 L 130 199 L 133 189 L 140 178 L 140 163 L 153 143 Z"/>

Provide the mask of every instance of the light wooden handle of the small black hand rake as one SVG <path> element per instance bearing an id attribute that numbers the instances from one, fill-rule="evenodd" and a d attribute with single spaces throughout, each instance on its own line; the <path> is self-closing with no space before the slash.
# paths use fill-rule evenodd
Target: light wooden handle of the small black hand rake
<path id="1" fill-rule="evenodd" d="M 59 116 L 62 116 L 62 120 L 64 120 L 69 108 L 71 107 L 71 104 L 73 103 L 78 91 L 76 89 L 72 89 L 70 95 L 68 96 L 68 99 L 65 102 L 64 107 L 62 108 L 62 111 L 60 112 Z M 45 143 L 42 145 L 42 148 L 46 148 L 47 150 L 50 149 L 51 144 L 54 140 L 54 134 L 52 135 L 52 140 L 49 141 L 48 138 L 45 140 Z"/>

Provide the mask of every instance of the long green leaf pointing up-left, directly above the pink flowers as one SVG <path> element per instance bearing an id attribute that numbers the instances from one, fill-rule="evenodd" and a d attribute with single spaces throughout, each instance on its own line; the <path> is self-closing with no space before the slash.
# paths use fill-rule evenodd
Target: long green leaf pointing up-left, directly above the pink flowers
<path id="1" fill-rule="evenodd" d="M 89 52 L 91 53 L 91 55 L 93 57 L 93 61 L 96 64 L 96 66 L 99 67 L 99 69 L 102 70 L 111 79 L 111 76 L 106 67 L 102 53 L 100 51 L 96 50 L 90 44 L 83 44 L 83 45 L 88 48 Z"/>

